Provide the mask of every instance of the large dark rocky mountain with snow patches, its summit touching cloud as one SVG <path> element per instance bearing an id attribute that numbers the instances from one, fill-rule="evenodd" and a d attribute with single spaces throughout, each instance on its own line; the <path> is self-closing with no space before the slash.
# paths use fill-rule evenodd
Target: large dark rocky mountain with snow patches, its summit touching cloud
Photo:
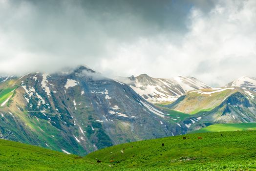
<path id="1" fill-rule="evenodd" d="M 128 85 L 80 66 L 0 78 L 0 138 L 85 155 L 184 133 Z M 181 124 L 182 125 L 182 124 Z"/>

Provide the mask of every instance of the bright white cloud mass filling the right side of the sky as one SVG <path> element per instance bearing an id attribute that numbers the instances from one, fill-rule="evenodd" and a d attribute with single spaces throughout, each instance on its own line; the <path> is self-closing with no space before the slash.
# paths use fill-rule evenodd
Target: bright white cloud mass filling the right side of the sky
<path id="1" fill-rule="evenodd" d="M 155 77 L 194 76 L 225 85 L 242 75 L 256 76 L 256 1 L 219 1 L 204 14 L 192 8 L 189 31 L 178 43 L 169 34 L 120 45 L 105 70 Z M 181 41 L 181 43 L 179 43 Z"/>

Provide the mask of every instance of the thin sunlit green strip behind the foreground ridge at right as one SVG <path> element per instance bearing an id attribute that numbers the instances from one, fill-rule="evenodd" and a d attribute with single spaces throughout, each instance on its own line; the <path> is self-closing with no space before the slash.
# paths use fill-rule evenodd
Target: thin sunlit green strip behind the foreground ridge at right
<path id="1" fill-rule="evenodd" d="M 237 131 L 237 130 L 256 130 L 256 123 L 214 124 L 206 128 L 194 130 L 190 133 Z"/>

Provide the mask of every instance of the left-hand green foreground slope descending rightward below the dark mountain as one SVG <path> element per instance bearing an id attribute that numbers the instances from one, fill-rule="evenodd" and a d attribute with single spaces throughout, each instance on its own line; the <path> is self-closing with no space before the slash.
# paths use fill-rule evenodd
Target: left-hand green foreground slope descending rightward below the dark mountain
<path id="1" fill-rule="evenodd" d="M 100 171 L 102 164 L 36 146 L 0 140 L 0 171 Z"/>

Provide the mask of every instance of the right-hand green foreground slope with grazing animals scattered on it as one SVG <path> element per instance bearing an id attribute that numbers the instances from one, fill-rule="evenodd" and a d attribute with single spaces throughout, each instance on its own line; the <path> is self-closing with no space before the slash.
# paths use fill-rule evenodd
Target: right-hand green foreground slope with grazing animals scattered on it
<path id="1" fill-rule="evenodd" d="M 256 131 L 222 134 L 196 133 L 127 143 L 90 153 L 85 158 L 97 158 L 117 170 L 256 170 Z M 199 136 L 202 139 L 197 139 Z"/>

